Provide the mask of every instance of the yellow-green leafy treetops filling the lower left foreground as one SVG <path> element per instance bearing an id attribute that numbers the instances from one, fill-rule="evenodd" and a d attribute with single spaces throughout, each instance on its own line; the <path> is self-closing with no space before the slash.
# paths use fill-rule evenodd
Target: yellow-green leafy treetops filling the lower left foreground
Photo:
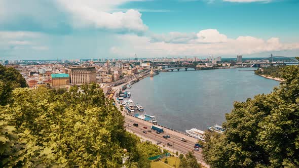
<path id="1" fill-rule="evenodd" d="M 150 167 L 147 158 L 160 149 L 123 125 L 95 83 L 68 91 L 16 88 L 0 106 L 0 167 L 121 167 L 124 148 L 128 167 Z"/>

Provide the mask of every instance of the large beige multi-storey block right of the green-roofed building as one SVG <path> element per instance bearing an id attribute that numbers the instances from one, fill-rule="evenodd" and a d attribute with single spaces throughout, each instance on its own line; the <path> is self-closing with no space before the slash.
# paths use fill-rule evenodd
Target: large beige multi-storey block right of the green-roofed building
<path id="1" fill-rule="evenodd" d="M 96 82 L 95 67 L 70 67 L 69 68 L 70 83 L 83 84 Z"/>

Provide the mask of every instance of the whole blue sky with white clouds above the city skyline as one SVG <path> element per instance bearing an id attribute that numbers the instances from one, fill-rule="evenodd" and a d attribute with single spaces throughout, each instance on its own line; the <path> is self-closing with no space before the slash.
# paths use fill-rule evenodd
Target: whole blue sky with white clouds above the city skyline
<path id="1" fill-rule="evenodd" d="M 0 59 L 298 56 L 297 0 L 0 0 Z"/>

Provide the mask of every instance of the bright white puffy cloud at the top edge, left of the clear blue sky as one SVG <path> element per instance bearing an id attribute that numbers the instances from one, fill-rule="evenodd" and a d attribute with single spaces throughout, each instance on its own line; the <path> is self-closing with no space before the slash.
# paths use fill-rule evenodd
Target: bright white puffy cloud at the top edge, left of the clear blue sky
<path id="1" fill-rule="evenodd" d="M 147 26 L 143 24 L 141 13 L 130 9 L 127 12 L 109 12 L 125 0 L 118 1 L 66 1 L 57 0 L 61 9 L 68 12 L 72 25 L 77 28 L 93 27 L 113 30 L 144 32 Z"/>

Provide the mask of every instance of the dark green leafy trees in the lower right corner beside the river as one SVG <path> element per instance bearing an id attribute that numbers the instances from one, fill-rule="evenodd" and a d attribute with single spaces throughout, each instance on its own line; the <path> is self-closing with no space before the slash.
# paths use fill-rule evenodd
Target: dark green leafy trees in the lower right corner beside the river
<path id="1" fill-rule="evenodd" d="M 223 135 L 206 134 L 211 167 L 299 166 L 299 67 L 284 67 L 281 77 L 271 94 L 235 102 Z"/>

